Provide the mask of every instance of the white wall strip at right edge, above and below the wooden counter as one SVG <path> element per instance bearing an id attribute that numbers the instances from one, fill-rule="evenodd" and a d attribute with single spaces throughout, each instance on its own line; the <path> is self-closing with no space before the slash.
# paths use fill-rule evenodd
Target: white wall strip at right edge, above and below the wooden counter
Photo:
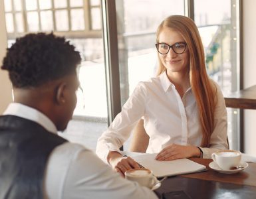
<path id="1" fill-rule="evenodd" d="M 243 1 L 243 86 L 256 84 L 256 1 Z M 245 153 L 256 155 L 256 110 L 245 110 Z"/>

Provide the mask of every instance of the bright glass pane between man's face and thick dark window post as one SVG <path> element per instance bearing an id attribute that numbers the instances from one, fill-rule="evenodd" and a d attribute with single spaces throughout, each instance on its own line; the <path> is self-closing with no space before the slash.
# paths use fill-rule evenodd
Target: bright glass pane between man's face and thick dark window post
<path id="1" fill-rule="evenodd" d="M 99 38 L 72 38 L 70 42 L 82 56 L 78 73 L 82 90 L 77 92 L 73 119 L 62 136 L 96 148 L 98 137 L 108 127 L 103 40 L 100 35 Z"/>

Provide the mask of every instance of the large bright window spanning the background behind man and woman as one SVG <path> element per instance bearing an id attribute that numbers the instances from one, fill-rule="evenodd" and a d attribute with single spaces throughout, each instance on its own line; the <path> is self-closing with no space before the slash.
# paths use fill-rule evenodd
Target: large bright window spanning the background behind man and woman
<path id="1" fill-rule="evenodd" d="M 108 15 L 113 12 L 116 15 L 114 19 L 106 19 L 104 6 L 113 2 L 114 6 L 107 8 Z M 108 115 L 112 111 L 108 107 L 118 107 L 119 112 L 120 105 L 128 99 L 136 84 L 155 76 L 156 29 L 169 15 L 187 15 L 188 12 L 194 16 L 203 39 L 209 76 L 218 82 L 224 94 L 239 88 L 237 0 L 4 0 L 4 3 L 9 46 L 23 34 L 53 31 L 68 38 L 80 51 L 82 90 L 77 94 L 74 119 L 68 125 L 68 133 L 64 134 L 71 141 L 96 147 L 96 139 L 108 126 Z M 188 3 L 193 4 L 188 6 Z M 111 59 L 119 63 L 119 76 L 114 74 L 111 64 L 109 71 L 105 64 L 106 51 L 116 54 L 108 45 L 108 38 L 102 38 L 102 27 L 106 23 L 114 24 L 118 31 L 117 36 L 113 36 L 113 29 L 108 34 L 112 44 L 118 47 L 119 58 L 112 56 Z M 118 84 L 118 90 L 120 88 L 120 94 L 117 92 L 119 101 L 109 100 L 114 98 L 114 92 L 109 89 L 111 84 L 106 71 L 118 76 L 111 84 Z M 239 110 L 228 109 L 228 115 L 230 147 L 239 149 Z"/>

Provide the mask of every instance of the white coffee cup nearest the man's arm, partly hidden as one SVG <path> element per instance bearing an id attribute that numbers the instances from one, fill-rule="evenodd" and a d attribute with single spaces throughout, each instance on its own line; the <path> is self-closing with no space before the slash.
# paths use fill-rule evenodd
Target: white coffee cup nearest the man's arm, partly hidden
<path id="1" fill-rule="evenodd" d="M 136 181 L 140 185 L 147 186 L 148 188 L 152 188 L 157 182 L 157 178 L 154 176 L 152 170 L 147 168 L 130 169 L 124 175 L 126 179 Z"/>

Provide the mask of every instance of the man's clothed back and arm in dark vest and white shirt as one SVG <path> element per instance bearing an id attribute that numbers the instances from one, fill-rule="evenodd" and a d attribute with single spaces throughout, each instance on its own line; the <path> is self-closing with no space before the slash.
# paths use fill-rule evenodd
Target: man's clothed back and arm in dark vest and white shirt
<path id="1" fill-rule="evenodd" d="M 0 198 L 156 198 L 148 188 L 121 178 L 94 152 L 59 137 L 36 109 L 11 103 L 5 113 L 0 163 L 8 166 L 0 168 L 0 182 L 5 182 Z"/>

